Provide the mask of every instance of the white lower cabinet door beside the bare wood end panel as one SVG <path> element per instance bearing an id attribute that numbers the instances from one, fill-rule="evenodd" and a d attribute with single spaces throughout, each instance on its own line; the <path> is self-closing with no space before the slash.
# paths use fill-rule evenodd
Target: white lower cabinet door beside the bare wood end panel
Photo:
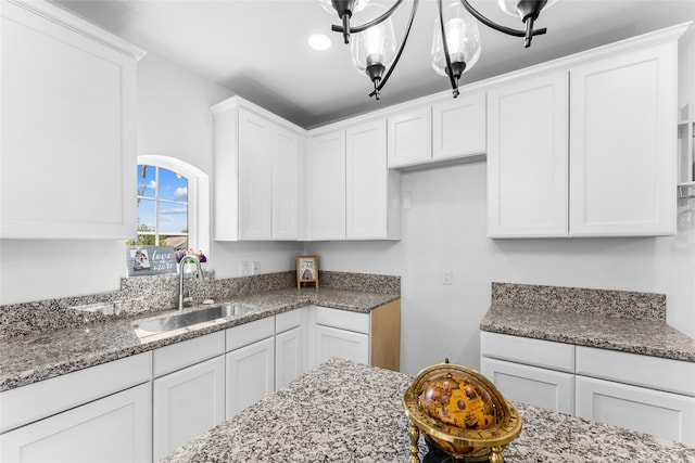
<path id="1" fill-rule="evenodd" d="M 369 364 L 369 335 L 336 327 L 316 325 L 314 362 L 319 364 L 339 357 Z"/>

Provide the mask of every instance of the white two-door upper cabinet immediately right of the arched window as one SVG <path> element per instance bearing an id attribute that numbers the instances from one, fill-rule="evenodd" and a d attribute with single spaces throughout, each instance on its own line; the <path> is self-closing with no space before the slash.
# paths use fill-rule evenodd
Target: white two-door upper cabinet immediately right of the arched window
<path id="1" fill-rule="evenodd" d="M 300 239 L 304 130 L 239 97 L 211 111 L 215 240 Z"/>

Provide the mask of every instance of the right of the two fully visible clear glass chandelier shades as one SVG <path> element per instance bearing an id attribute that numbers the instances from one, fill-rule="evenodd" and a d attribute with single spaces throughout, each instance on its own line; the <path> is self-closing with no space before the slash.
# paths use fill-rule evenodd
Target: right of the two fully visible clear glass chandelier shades
<path id="1" fill-rule="evenodd" d="M 454 72 L 454 78 L 458 79 L 480 57 L 481 46 L 478 22 L 466 12 L 458 0 L 446 5 L 442 10 L 442 16 L 452 70 Z M 431 59 L 432 68 L 437 74 L 444 77 L 448 76 L 439 16 L 434 25 Z"/>

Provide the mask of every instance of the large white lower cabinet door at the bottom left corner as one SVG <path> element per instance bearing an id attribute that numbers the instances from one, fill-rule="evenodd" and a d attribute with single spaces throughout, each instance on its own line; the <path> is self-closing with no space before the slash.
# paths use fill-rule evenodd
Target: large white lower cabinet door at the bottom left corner
<path id="1" fill-rule="evenodd" d="M 150 462 L 150 383 L 0 435 L 3 462 Z"/>

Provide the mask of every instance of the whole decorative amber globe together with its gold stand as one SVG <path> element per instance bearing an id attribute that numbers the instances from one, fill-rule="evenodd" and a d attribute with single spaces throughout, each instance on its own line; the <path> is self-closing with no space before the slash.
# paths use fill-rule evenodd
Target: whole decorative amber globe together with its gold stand
<path id="1" fill-rule="evenodd" d="M 455 363 L 422 370 L 403 394 L 403 406 L 410 421 L 409 463 L 420 461 L 420 434 L 433 454 L 502 463 L 504 448 L 521 433 L 518 410 L 494 384 Z"/>

